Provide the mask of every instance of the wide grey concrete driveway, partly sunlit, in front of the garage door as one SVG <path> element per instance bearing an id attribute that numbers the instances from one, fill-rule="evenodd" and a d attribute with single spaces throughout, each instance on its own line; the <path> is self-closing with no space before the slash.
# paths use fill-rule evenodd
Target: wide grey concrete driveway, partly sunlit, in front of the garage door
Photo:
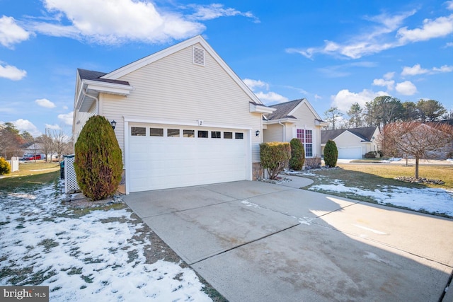
<path id="1" fill-rule="evenodd" d="M 295 187 L 226 182 L 125 202 L 229 301 L 453 301 L 452 220 Z"/>

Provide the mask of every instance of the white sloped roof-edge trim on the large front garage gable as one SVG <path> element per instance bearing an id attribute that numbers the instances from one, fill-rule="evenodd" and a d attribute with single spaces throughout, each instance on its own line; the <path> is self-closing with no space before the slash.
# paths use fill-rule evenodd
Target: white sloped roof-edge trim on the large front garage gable
<path id="1" fill-rule="evenodd" d="M 231 79 L 233 79 L 236 82 L 236 84 L 248 95 L 248 97 L 251 98 L 251 100 L 253 100 L 253 103 L 263 105 L 263 102 L 261 102 L 261 100 L 255 95 L 255 93 L 251 91 L 251 89 L 246 85 L 246 83 L 243 83 L 241 78 L 239 78 L 239 76 L 224 62 L 224 60 L 219 56 L 219 54 L 217 54 L 217 52 L 215 52 L 214 49 L 212 49 L 212 47 L 206 42 L 205 39 L 203 39 L 201 35 L 197 35 L 176 45 L 168 47 L 164 50 L 161 50 L 147 57 L 139 59 L 135 62 L 122 66 L 119 69 L 116 69 L 108 74 L 104 74 L 99 79 L 117 80 L 120 77 L 125 76 L 126 74 L 130 74 L 132 71 L 136 71 L 137 69 L 140 69 L 143 66 L 147 66 L 153 62 L 156 62 L 159 59 L 167 57 L 170 54 L 174 54 L 175 52 L 178 52 L 180 50 L 183 50 L 187 47 L 196 44 L 202 45 L 202 47 L 207 51 L 207 53 L 209 53 L 214 58 L 214 60 L 220 66 L 222 66 L 222 69 L 224 69 L 224 71 L 226 71 L 226 73 L 229 74 L 229 76 L 231 76 Z"/>

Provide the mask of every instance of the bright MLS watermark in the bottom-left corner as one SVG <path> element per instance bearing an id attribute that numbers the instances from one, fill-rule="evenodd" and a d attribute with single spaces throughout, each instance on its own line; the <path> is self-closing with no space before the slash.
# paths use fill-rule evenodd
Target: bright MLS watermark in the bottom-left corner
<path id="1" fill-rule="evenodd" d="M 49 302 L 49 286 L 0 286 L 0 301 Z"/>

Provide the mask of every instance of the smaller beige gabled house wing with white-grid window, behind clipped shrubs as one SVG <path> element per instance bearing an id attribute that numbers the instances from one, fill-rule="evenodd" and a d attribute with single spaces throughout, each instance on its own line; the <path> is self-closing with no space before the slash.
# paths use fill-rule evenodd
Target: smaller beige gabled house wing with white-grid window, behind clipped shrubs
<path id="1" fill-rule="evenodd" d="M 263 141 L 300 139 L 306 157 L 321 157 L 321 127 L 327 126 L 306 98 L 270 106 L 263 120 Z"/>

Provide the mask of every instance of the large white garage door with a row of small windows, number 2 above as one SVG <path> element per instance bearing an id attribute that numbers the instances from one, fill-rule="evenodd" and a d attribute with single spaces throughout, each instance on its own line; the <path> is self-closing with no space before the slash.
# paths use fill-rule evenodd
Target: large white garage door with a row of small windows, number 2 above
<path id="1" fill-rule="evenodd" d="M 248 132 L 130 125 L 130 192 L 246 179 Z"/>

